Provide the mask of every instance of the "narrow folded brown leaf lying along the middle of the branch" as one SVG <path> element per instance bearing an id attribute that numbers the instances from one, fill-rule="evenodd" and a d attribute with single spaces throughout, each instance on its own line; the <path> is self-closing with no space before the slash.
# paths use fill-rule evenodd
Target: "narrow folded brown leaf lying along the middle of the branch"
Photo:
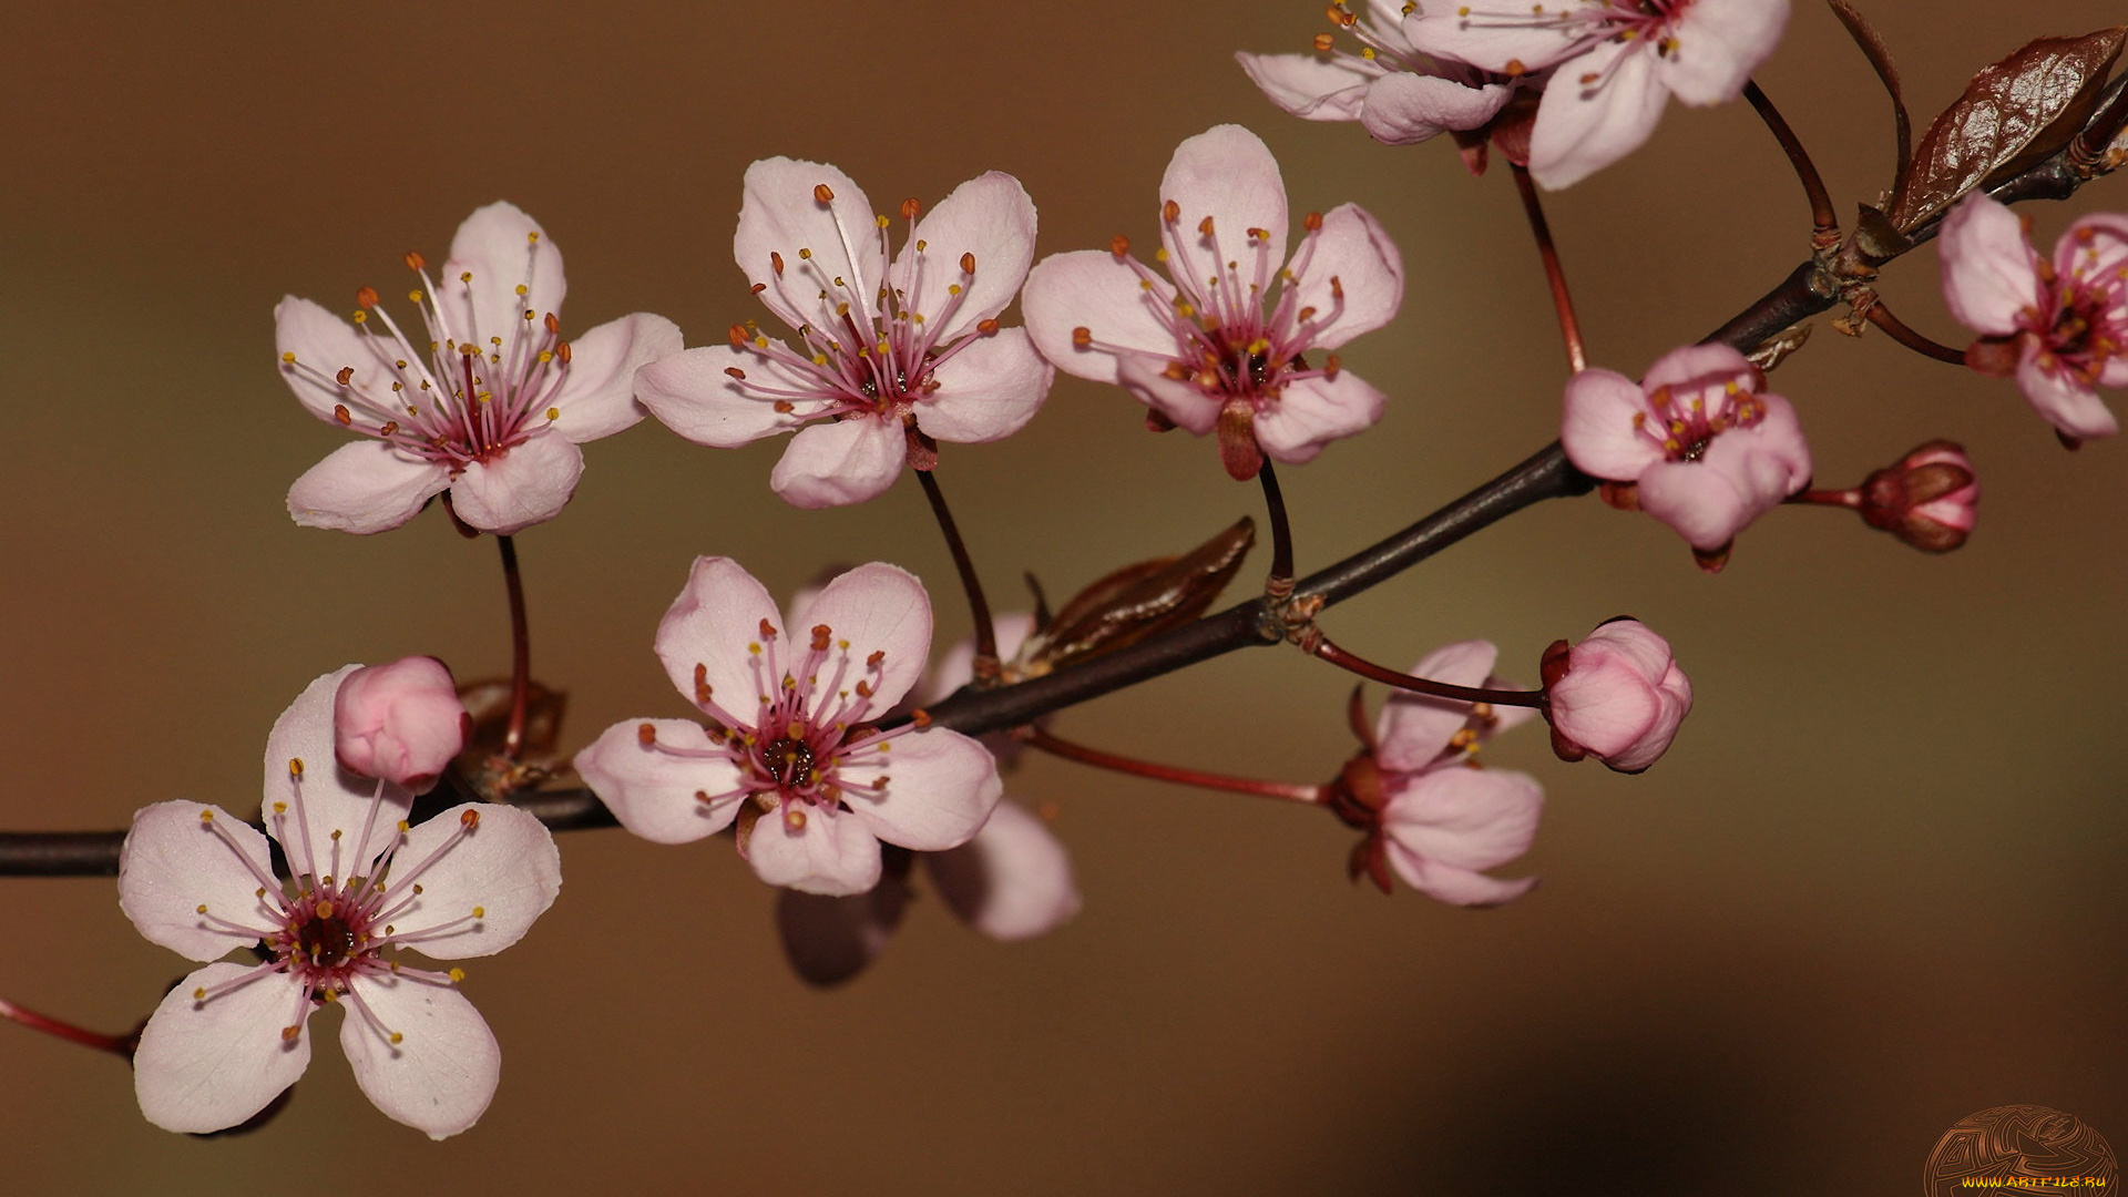
<path id="1" fill-rule="evenodd" d="M 1179 558 L 1141 560 L 1109 573 L 1028 639 L 1019 673 L 1038 677 L 1202 616 L 1234 579 L 1253 543 L 1256 522 L 1243 515 Z"/>

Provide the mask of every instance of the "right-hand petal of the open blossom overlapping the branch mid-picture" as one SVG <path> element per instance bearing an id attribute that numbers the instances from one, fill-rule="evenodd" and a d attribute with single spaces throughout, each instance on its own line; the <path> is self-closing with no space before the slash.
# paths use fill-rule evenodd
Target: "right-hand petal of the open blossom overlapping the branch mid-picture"
<path id="1" fill-rule="evenodd" d="M 843 801 L 872 835 L 917 852 L 960 848 L 1004 794 L 990 750 L 941 726 L 894 737 L 872 752 L 860 748 L 836 769 L 860 786 L 875 771 L 887 777 L 883 794 L 845 788 Z"/>

